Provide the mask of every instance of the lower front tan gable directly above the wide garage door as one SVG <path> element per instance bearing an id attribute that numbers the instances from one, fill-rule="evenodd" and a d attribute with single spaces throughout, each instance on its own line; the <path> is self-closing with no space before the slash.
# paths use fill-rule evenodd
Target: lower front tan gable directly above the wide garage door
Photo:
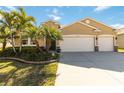
<path id="1" fill-rule="evenodd" d="M 74 23 L 61 29 L 63 35 L 93 35 L 93 28 L 81 23 Z"/>

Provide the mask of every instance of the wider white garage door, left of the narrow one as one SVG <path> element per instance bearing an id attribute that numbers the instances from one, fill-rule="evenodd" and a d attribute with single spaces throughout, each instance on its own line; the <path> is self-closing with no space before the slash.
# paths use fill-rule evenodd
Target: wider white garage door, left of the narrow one
<path id="1" fill-rule="evenodd" d="M 94 36 L 64 36 L 60 47 L 62 52 L 94 51 Z"/>

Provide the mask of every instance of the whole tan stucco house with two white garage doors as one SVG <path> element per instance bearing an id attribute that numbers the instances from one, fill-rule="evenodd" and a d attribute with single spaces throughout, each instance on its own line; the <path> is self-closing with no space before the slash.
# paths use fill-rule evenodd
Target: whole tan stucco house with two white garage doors
<path id="1" fill-rule="evenodd" d="M 56 27 L 61 30 L 62 41 L 51 42 L 51 46 L 60 47 L 62 52 L 93 52 L 117 51 L 116 29 L 98 22 L 92 18 L 85 18 L 67 26 L 60 26 L 57 22 L 47 21 L 42 25 Z M 45 46 L 45 39 L 39 40 L 40 46 Z M 15 45 L 19 45 L 15 40 Z M 23 46 L 35 46 L 30 38 L 23 40 Z"/>

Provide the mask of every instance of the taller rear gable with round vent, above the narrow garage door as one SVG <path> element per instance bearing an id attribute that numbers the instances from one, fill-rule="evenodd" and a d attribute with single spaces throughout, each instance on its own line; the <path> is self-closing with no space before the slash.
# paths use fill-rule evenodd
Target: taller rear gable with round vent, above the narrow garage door
<path id="1" fill-rule="evenodd" d="M 86 18 L 84 20 L 81 20 L 81 22 L 84 22 L 88 25 L 91 25 L 91 26 L 96 27 L 97 29 L 101 30 L 99 32 L 99 34 L 116 34 L 112 27 L 107 26 L 104 23 L 98 22 L 94 19 Z"/>

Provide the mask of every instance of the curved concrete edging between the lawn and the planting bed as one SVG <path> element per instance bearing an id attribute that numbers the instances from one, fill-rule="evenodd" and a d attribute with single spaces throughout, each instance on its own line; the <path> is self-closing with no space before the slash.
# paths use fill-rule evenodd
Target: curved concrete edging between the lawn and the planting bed
<path id="1" fill-rule="evenodd" d="M 18 61 L 18 62 L 23 62 L 23 63 L 27 63 L 27 64 L 50 64 L 50 63 L 54 63 L 57 62 L 56 60 L 48 60 L 48 61 L 27 61 L 21 58 L 15 58 L 15 57 L 0 57 L 0 60 L 12 60 L 12 61 Z"/>

